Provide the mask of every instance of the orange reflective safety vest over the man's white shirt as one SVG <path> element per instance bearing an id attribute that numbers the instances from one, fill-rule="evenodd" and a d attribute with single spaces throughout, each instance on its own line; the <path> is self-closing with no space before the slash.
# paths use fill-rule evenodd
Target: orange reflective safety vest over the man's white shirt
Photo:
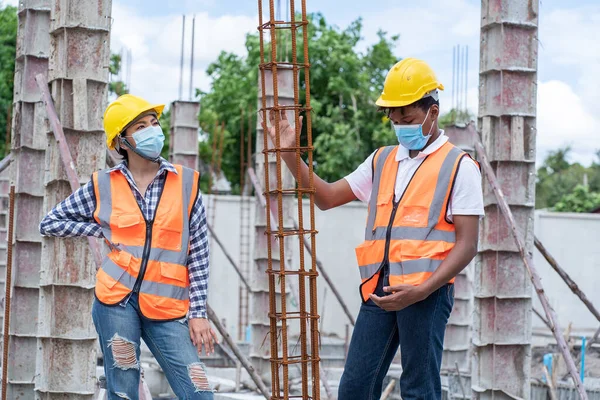
<path id="1" fill-rule="evenodd" d="M 455 243 L 446 210 L 460 160 L 468 155 L 446 142 L 421 163 L 396 202 L 397 152 L 398 146 L 384 147 L 373 159 L 365 241 L 356 248 L 364 302 L 384 266 L 384 285 L 416 286 L 433 274 Z"/>

